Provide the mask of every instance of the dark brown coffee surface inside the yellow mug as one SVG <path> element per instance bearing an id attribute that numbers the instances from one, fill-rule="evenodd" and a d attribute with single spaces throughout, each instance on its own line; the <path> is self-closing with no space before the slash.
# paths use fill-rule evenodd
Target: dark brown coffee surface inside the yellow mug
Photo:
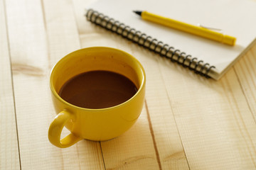
<path id="1" fill-rule="evenodd" d="M 137 92 L 127 77 L 108 71 L 91 71 L 68 80 L 59 95 L 82 108 L 108 108 L 124 103 Z"/>

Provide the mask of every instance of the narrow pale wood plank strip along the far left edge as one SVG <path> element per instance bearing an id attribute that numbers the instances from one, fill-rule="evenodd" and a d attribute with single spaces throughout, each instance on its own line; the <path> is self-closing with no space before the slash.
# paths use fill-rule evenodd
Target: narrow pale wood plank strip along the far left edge
<path id="1" fill-rule="evenodd" d="M 20 169 L 4 0 L 0 1 L 0 169 Z"/>

